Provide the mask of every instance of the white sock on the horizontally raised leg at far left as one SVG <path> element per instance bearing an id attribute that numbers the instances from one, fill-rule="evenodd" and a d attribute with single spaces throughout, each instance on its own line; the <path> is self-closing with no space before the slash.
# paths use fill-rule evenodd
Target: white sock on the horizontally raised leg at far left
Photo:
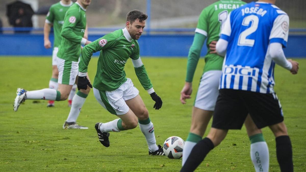
<path id="1" fill-rule="evenodd" d="M 55 100 L 57 91 L 51 88 L 44 88 L 42 90 L 28 91 L 26 92 L 27 99 L 43 99 L 43 100 Z"/>

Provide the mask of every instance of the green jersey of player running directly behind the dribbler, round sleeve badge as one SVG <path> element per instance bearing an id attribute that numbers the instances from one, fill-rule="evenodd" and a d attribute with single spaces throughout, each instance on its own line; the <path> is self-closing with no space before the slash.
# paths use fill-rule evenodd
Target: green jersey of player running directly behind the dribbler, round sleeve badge
<path id="1" fill-rule="evenodd" d="M 86 28 L 85 11 L 77 2 L 67 10 L 61 30 L 62 42 L 58 49 L 58 58 L 74 62 L 79 60 Z"/>

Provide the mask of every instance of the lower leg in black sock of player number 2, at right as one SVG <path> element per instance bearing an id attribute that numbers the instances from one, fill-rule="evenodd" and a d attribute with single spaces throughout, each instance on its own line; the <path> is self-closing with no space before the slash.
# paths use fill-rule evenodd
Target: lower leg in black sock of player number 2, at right
<path id="1" fill-rule="evenodd" d="M 284 122 L 269 126 L 275 136 L 276 156 L 281 171 L 293 171 L 292 145 Z"/>

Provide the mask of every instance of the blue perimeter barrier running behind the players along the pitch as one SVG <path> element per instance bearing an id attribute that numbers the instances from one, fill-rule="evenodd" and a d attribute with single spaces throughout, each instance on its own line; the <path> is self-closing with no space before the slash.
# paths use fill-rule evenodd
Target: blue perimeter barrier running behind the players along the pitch
<path id="1" fill-rule="evenodd" d="M 111 28 L 108 28 L 108 30 L 111 30 Z M 180 34 L 180 32 L 190 31 L 194 31 L 194 29 L 151 29 L 151 33 L 166 32 L 166 34 L 143 34 L 138 40 L 140 56 L 187 57 L 194 35 L 190 33 Z M 303 31 L 305 31 L 305 29 L 296 30 L 296 32 Z M 89 32 L 95 32 L 95 28 L 89 29 Z M 175 33 L 170 34 L 167 32 Z M 102 34 L 90 34 L 89 40 L 94 41 L 102 36 Z M 53 34 L 50 33 L 51 43 L 53 43 L 53 39 Z M 2 43 L 0 55 L 51 56 L 52 54 L 52 49 L 44 48 L 43 34 L 41 33 L 0 34 L 0 42 Z M 201 56 L 205 56 L 206 52 L 207 47 L 204 45 L 201 51 Z M 306 35 L 289 34 L 287 47 L 284 48 L 284 53 L 287 57 L 306 57 Z M 99 55 L 99 52 L 94 53 L 93 55 Z"/>

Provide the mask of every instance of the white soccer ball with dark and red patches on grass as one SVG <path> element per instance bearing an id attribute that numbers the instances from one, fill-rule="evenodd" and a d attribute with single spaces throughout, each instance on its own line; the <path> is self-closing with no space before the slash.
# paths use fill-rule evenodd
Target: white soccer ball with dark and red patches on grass
<path id="1" fill-rule="evenodd" d="M 185 141 L 178 136 L 171 136 L 164 142 L 164 153 L 170 159 L 180 159 L 183 155 Z"/>

